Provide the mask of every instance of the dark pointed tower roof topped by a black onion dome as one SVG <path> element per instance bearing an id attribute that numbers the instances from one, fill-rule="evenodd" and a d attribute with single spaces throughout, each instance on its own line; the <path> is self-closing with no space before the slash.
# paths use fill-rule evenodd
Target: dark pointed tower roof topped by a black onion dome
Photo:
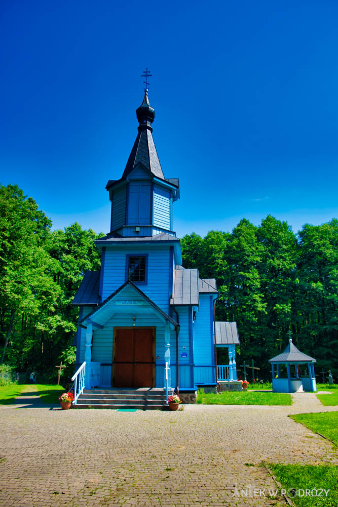
<path id="1" fill-rule="evenodd" d="M 149 103 L 148 90 L 144 92 L 143 102 L 137 108 L 136 116 L 139 122 L 138 134 L 122 177 L 126 178 L 134 167 L 141 163 L 156 177 L 165 179 L 152 135 L 155 110 Z"/>

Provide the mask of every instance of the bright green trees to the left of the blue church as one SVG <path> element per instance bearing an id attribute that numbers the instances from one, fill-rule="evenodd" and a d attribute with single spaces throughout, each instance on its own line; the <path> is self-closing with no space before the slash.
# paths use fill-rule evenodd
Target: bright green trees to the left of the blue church
<path id="1" fill-rule="evenodd" d="M 51 221 L 15 185 L 0 186 L 1 363 L 55 377 L 63 360 L 72 373 L 78 309 L 71 301 L 87 270 L 100 266 L 94 231 Z"/>

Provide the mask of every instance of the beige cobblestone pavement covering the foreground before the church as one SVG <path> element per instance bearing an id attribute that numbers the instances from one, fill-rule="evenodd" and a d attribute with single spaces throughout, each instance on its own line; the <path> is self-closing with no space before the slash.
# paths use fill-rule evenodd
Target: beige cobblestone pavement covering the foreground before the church
<path id="1" fill-rule="evenodd" d="M 116 412 L 46 408 L 28 394 L 0 409 L 0 505 L 286 505 L 233 495 L 236 486 L 276 489 L 262 460 L 338 463 L 329 441 L 287 417 L 338 407 L 312 393 L 293 397 L 290 407 Z"/>

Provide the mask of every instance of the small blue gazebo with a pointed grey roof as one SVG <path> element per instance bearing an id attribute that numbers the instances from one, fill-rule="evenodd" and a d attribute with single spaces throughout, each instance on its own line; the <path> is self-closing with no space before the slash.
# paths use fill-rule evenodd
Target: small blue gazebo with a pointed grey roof
<path id="1" fill-rule="evenodd" d="M 289 343 L 284 350 L 276 357 L 269 359 L 272 367 L 272 390 L 274 392 L 302 392 L 316 391 L 316 378 L 314 363 L 316 359 L 299 351 L 289 339 Z M 308 365 L 308 375 L 302 375 L 299 365 Z M 275 376 L 275 365 L 277 373 Z M 286 365 L 287 378 L 280 376 L 280 365 Z M 291 368 L 294 368 L 294 375 L 291 374 Z"/>

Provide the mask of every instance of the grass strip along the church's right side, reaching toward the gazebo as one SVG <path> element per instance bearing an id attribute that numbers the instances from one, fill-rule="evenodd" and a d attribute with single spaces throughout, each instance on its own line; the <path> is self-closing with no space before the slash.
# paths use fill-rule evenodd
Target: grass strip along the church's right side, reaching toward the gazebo
<path id="1" fill-rule="evenodd" d="M 197 403 L 205 405 L 291 405 L 291 396 L 279 392 L 223 391 L 219 394 L 203 390 L 197 393 Z"/>

